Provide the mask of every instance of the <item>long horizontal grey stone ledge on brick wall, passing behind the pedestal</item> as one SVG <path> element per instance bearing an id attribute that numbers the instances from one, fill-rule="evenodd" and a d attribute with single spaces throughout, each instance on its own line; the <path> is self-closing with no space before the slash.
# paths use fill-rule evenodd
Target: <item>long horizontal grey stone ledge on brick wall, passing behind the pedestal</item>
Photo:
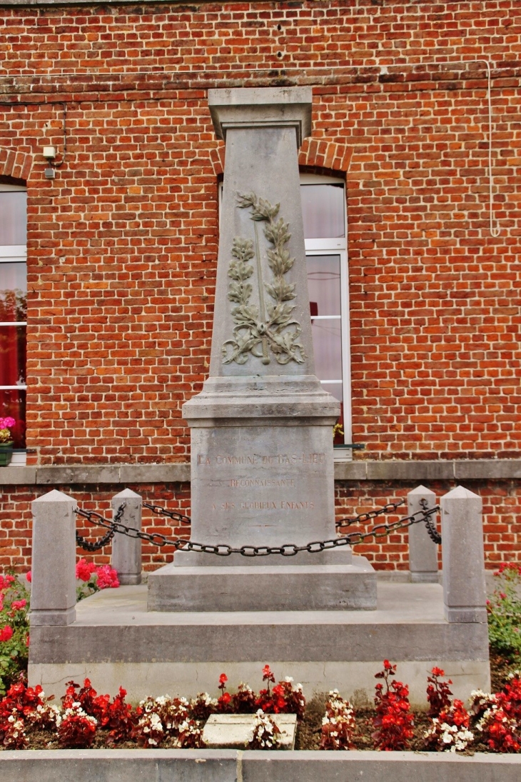
<path id="1" fill-rule="evenodd" d="M 521 459 L 337 461 L 337 481 L 482 481 L 521 479 Z M 2 467 L 0 486 L 63 486 L 109 483 L 189 483 L 190 463 L 170 465 L 70 465 Z"/>

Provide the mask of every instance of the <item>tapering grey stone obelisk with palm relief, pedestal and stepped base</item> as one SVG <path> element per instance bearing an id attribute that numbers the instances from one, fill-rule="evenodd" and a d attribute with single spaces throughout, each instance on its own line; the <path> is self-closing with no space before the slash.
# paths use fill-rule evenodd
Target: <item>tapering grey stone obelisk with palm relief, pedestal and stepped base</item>
<path id="1" fill-rule="evenodd" d="M 336 536 L 339 404 L 315 375 L 298 174 L 311 106 L 310 88 L 209 91 L 226 165 L 210 373 L 183 407 L 198 543 L 266 551 Z M 376 607 L 373 569 L 351 561 L 348 547 L 291 558 L 180 551 L 174 559 L 151 577 L 152 608 Z M 167 574 L 160 592 L 155 584 Z"/>

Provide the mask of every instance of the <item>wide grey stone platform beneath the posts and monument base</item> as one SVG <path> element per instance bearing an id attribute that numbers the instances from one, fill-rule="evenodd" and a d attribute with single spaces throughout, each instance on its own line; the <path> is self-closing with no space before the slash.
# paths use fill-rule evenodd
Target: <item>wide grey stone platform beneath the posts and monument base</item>
<path id="1" fill-rule="evenodd" d="M 337 687 L 355 701 L 372 699 L 384 658 L 398 663 L 413 704 L 425 705 L 434 665 L 454 682 L 455 697 L 490 687 L 487 625 L 444 619 L 443 590 L 434 583 L 378 583 L 376 611 L 147 612 L 145 585 L 104 590 L 77 604 L 68 626 L 34 626 L 30 683 L 59 693 L 88 676 L 98 691 L 132 701 L 148 694 L 255 689 L 267 662 L 278 678 L 313 691 Z"/>

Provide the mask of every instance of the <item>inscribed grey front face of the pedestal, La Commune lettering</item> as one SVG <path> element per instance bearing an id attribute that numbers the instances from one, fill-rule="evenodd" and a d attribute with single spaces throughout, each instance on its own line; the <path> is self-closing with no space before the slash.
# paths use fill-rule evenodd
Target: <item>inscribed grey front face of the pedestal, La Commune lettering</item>
<path id="1" fill-rule="evenodd" d="M 216 429 L 209 436 L 198 429 L 192 436 L 200 438 L 192 453 L 194 540 L 199 519 L 212 522 L 205 539 L 215 529 L 219 541 L 241 544 L 309 543 L 317 527 L 326 537 L 334 534 L 332 504 L 324 497 L 329 431 L 244 428 L 239 435 Z"/>

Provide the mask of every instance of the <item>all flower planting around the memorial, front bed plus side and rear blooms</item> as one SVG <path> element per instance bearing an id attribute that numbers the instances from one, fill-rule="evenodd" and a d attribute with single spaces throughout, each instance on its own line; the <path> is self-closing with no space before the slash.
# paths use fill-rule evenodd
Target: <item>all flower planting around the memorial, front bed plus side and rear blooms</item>
<path id="1" fill-rule="evenodd" d="M 519 565 L 507 563 L 496 574 L 501 579 L 488 603 L 491 642 L 504 655 L 519 660 Z M 108 565 L 96 568 L 81 559 L 78 597 L 117 587 L 116 572 Z M 30 580 L 30 574 L 28 575 Z M 506 597 L 505 597 L 506 596 Z M 505 601 L 508 606 L 505 608 Z M 395 678 L 396 666 L 384 661 L 376 673 L 374 706 L 354 708 L 337 691 L 317 696 L 306 705 L 302 687 L 287 677 L 275 683 L 266 665 L 264 686 L 255 693 L 239 683 L 227 691 L 227 676 L 219 677 L 219 695 L 201 693 L 185 698 L 147 698 L 134 707 L 120 689 L 115 698 L 98 695 L 89 680 L 83 687 L 70 682 L 61 705 L 46 698 L 40 687 L 27 687 L 28 594 L 14 576 L 0 576 L 0 744 L 19 748 L 198 748 L 202 726 L 209 715 L 256 713 L 251 748 L 277 748 L 277 713 L 298 716 L 297 749 L 423 752 L 521 751 L 521 680 L 505 668 L 505 657 L 493 658 L 494 694 L 474 692 L 469 705 L 451 700 L 451 681 L 434 668 L 426 681 L 426 712 L 412 712 L 406 683 Z M 20 672 L 22 679 L 19 679 Z M 501 681 L 499 680 L 501 677 Z M 273 687 L 272 687 L 273 685 Z M 269 718 L 271 714 L 273 717 Z"/>

